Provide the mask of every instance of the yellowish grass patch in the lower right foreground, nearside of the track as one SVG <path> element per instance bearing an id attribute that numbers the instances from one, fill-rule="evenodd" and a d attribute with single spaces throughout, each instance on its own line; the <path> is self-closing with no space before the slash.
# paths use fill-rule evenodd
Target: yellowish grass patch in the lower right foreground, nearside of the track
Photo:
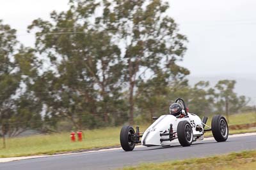
<path id="1" fill-rule="evenodd" d="M 218 155 L 215 157 L 205 157 L 197 159 L 186 159 L 168 161 L 163 163 L 140 164 L 136 167 L 125 167 L 124 170 L 144 170 L 144 169 L 256 169 L 256 151 L 246 151 L 230 153 L 228 155 Z"/>

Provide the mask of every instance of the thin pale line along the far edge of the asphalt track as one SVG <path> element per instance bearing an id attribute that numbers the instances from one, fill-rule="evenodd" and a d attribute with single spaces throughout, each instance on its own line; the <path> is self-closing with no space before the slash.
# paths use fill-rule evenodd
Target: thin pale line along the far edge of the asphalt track
<path id="1" fill-rule="evenodd" d="M 253 133 L 246 133 L 246 134 L 232 134 L 229 135 L 228 138 L 237 138 L 237 137 L 244 137 L 244 136 L 255 136 L 256 132 Z M 203 141 L 210 141 L 214 139 L 213 137 L 211 138 L 205 138 Z M 145 146 L 136 146 L 136 148 L 141 148 Z M 0 158 L 0 163 L 2 162 L 11 162 L 14 160 L 23 160 L 23 159 L 35 159 L 35 158 L 42 158 L 42 157 L 57 157 L 57 156 L 62 156 L 62 155 L 75 155 L 75 154 L 80 154 L 80 153 L 94 153 L 94 152 L 107 152 L 107 151 L 113 151 L 113 150 L 120 150 L 122 148 L 111 148 L 111 149 L 102 149 L 102 150 L 92 150 L 88 152 L 78 152 L 78 153 L 65 153 L 65 154 L 58 154 L 58 155 L 40 155 L 40 156 L 29 156 L 29 157 L 10 157 L 10 158 Z"/>

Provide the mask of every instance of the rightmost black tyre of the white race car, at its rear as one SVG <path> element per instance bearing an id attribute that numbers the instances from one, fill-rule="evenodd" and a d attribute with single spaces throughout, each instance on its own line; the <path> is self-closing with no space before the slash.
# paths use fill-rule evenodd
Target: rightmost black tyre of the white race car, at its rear
<path id="1" fill-rule="evenodd" d="M 212 136 L 218 142 L 227 141 L 228 124 L 225 117 L 216 115 L 212 118 Z"/>

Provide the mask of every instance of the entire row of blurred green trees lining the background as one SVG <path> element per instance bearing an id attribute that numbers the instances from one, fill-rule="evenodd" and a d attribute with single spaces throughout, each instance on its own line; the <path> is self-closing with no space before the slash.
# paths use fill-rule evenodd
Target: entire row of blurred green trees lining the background
<path id="1" fill-rule="evenodd" d="M 234 93 L 236 81 L 188 85 L 189 70 L 177 64 L 188 40 L 166 15 L 168 3 L 69 4 L 28 26 L 36 31 L 35 49 L 20 45 L 16 31 L 0 21 L 2 134 L 148 123 L 178 97 L 199 115 L 246 106 L 246 97 Z"/>

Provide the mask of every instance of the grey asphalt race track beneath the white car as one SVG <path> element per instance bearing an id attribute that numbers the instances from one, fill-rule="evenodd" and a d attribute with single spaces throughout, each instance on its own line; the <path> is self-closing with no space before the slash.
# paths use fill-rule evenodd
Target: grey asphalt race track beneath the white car
<path id="1" fill-rule="evenodd" d="M 103 152 L 87 152 L 74 155 L 17 160 L 0 163 L 0 169 L 116 169 L 118 167 L 134 166 L 141 162 L 163 162 L 166 160 L 205 157 L 220 153 L 239 152 L 241 150 L 256 150 L 256 136 L 228 138 L 228 141 L 222 143 L 217 143 L 214 139 L 209 139 L 207 141 L 195 142 L 189 147 L 182 147 L 177 143 L 168 147 L 137 147 L 132 152 L 115 149 Z"/>

